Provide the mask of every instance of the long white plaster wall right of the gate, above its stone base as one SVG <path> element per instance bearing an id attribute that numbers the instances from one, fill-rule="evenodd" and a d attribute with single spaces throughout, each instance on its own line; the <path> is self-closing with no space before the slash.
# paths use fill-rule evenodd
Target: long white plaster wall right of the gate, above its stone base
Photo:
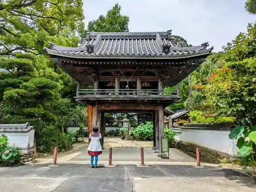
<path id="1" fill-rule="evenodd" d="M 230 131 L 182 129 L 181 133 L 175 136 L 175 139 L 237 155 L 237 140 L 229 139 L 229 133 Z"/>

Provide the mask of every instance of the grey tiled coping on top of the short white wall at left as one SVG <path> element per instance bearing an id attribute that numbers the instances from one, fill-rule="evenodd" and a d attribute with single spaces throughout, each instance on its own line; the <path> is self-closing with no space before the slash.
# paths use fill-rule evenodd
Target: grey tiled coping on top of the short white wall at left
<path id="1" fill-rule="evenodd" d="M 33 129 L 33 126 L 29 126 L 28 123 L 25 124 L 0 124 L 0 133 L 6 132 L 29 132 Z"/>

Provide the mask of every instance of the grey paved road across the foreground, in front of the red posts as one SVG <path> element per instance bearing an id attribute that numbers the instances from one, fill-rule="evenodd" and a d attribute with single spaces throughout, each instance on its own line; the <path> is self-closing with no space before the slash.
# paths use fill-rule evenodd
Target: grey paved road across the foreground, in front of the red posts
<path id="1" fill-rule="evenodd" d="M 90 168 L 89 165 L 25 165 L 0 168 L 5 192 L 254 192 L 252 179 L 216 167 L 134 165 Z"/>

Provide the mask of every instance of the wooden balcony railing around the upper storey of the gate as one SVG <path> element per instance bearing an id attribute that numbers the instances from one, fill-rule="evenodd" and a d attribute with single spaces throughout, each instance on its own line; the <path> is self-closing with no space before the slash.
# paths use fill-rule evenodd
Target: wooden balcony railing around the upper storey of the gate
<path id="1" fill-rule="evenodd" d="M 80 89 L 77 92 L 77 96 L 82 95 L 155 95 L 155 96 L 167 96 L 177 95 L 176 89 Z"/>

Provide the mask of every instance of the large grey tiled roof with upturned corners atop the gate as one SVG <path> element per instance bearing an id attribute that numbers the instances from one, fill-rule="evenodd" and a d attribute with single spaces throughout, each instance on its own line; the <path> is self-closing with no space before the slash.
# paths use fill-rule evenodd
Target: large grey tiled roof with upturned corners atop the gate
<path id="1" fill-rule="evenodd" d="M 167 32 L 88 32 L 77 48 L 57 46 L 45 48 L 50 55 L 73 58 L 182 58 L 208 54 L 208 42 L 195 47 L 176 47 L 172 31 Z"/>

